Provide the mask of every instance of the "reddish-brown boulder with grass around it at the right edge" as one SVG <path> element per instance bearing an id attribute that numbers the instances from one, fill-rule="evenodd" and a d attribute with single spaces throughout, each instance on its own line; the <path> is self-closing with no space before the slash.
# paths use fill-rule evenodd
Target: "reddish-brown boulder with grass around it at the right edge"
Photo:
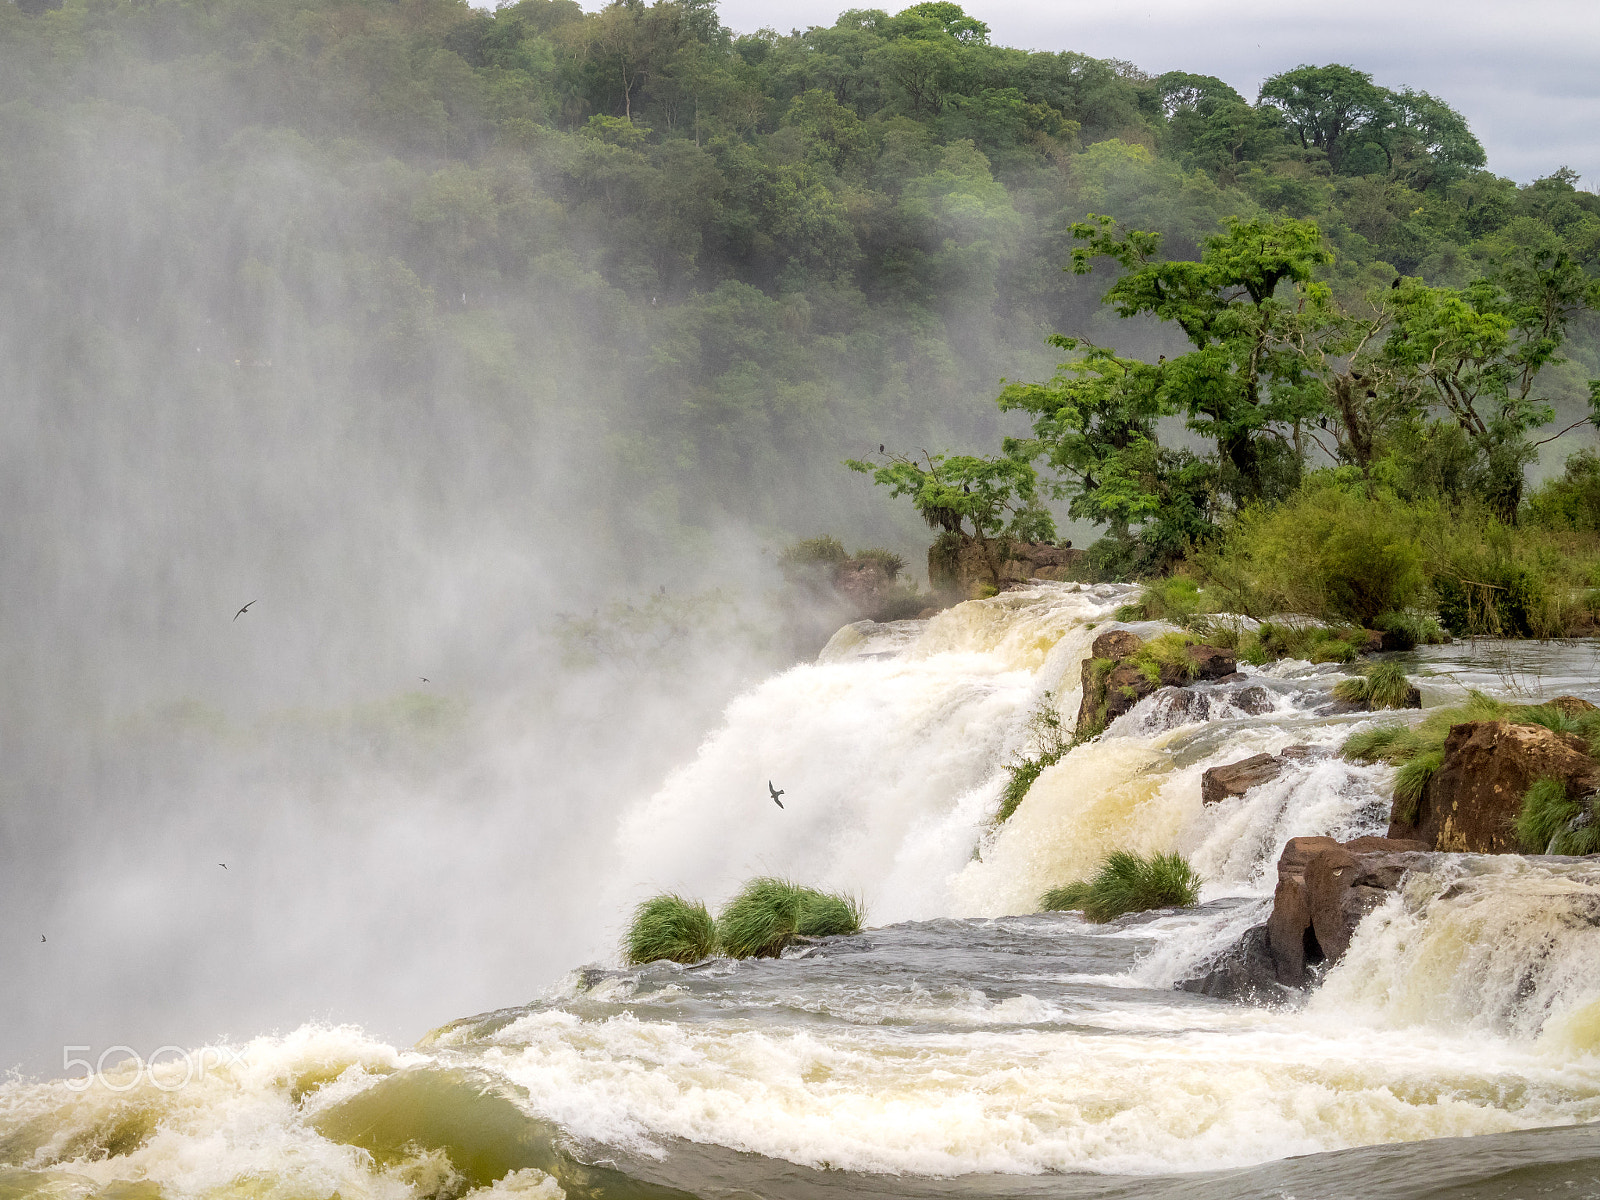
<path id="1" fill-rule="evenodd" d="M 1544 776 L 1565 781 L 1573 797 L 1600 789 L 1600 763 L 1574 734 L 1512 722 L 1454 725 L 1414 819 L 1394 811 L 1389 837 L 1413 837 L 1429 850 L 1515 854 L 1522 846 L 1512 826 L 1523 792 Z"/>

